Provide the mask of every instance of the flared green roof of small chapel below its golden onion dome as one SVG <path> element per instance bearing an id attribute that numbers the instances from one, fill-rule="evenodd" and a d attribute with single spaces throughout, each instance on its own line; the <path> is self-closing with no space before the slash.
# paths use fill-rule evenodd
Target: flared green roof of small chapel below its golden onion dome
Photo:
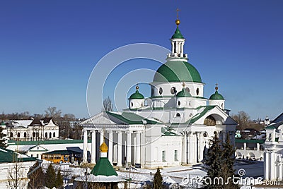
<path id="1" fill-rule="evenodd" d="M 91 174 L 95 176 L 118 176 L 107 157 L 100 157 L 100 159 L 98 159 L 96 166 L 91 170 Z"/>

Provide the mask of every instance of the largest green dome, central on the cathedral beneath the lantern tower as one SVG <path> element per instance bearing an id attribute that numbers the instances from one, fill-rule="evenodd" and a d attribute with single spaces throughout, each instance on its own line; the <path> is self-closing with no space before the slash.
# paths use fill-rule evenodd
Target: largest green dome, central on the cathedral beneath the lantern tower
<path id="1" fill-rule="evenodd" d="M 186 61 L 167 61 L 156 71 L 154 82 L 202 83 L 202 78 L 197 69 Z"/>

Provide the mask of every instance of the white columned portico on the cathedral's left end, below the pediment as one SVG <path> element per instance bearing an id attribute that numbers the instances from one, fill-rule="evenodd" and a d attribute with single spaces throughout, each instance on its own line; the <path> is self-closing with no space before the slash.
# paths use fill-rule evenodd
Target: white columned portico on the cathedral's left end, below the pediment
<path id="1" fill-rule="evenodd" d="M 144 125 L 95 126 L 83 125 L 83 163 L 88 162 L 87 152 L 91 152 L 91 164 L 99 158 L 99 146 L 108 142 L 108 159 L 111 164 L 141 164 L 141 133 Z M 91 149 L 87 149 L 88 135 L 91 134 Z"/>

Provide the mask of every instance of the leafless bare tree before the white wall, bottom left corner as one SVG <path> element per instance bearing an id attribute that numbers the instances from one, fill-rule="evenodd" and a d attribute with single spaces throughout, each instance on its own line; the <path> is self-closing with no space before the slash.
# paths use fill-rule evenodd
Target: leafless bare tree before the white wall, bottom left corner
<path id="1" fill-rule="evenodd" d="M 28 178 L 26 177 L 23 161 L 18 158 L 18 154 L 13 153 L 13 164 L 8 168 L 6 185 L 8 188 L 26 188 Z"/>

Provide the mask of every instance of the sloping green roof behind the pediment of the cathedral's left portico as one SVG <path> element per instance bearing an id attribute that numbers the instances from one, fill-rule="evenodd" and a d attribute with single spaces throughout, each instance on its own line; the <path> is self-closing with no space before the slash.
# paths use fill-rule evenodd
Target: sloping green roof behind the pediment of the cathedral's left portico
<path id="1" fill-rule="evenodd" d="M 113 116 L 126 124 L 157 124 L 157 121 L 149 120 L 132 112 L 122 112 L 117 114 L 115 112 L 106 111 L 108 116 Z"/>

